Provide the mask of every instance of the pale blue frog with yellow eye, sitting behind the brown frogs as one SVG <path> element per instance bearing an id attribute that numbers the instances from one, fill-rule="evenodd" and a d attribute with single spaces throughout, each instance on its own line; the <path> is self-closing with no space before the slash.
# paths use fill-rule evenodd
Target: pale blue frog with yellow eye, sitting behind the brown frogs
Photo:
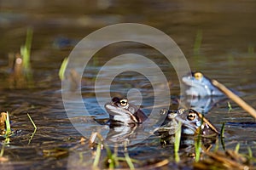
<path id="1" fill-rule="evenodd" d="M 205 97 L 205 96 L 224 96 L 224 94 L 212 85 L 211 79 L 205 77 L 201 72 L 195 71 L 184 76 L 182 81 L 188 86 L 186 95 Z"/>

